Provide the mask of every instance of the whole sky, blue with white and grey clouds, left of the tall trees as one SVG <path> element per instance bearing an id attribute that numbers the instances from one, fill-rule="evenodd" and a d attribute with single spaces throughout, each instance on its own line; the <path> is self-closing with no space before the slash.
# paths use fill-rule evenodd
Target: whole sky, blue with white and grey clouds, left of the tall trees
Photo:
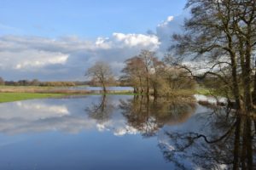
<path id="1" fill-rule="evenodd" d="M 166 53 L 185 0 L 0 0 L 0 77 L 84 81 L 98 60 L 115 76 L 142 49 Z"/>

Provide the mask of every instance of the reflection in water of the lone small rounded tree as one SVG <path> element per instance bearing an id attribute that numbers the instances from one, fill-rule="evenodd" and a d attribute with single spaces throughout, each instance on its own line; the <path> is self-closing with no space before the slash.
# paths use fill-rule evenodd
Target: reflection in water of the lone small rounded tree
<path id="1" fill-rule="evenodd" d="M 106 95 L 102 95 L 100 102 L 92 103 L 85 111 L 90 118 L 96 119 L 99 122 L 106 122 L 110 119 L 113 112 L 113 105 L 108 101 Z"/>

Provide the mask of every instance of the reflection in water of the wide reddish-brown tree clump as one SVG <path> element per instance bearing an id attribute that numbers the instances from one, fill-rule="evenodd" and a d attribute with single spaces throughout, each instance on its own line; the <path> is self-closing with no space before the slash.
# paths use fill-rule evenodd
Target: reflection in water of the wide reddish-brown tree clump
<path id="1" fill-rule="evenodd" d="M 133 99 L 120 100 L 119 108 L 129 126 L 136 128 L 143 136 L 153 136 L 165 124 L 187 120 L 195 111 L 195 103 L 134 96 Z"/>

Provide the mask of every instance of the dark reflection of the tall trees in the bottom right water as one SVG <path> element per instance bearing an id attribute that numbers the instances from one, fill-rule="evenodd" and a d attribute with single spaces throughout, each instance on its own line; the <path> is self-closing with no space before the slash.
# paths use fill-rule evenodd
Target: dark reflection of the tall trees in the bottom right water
<path id="1" fill-rule="evenodd" d="M 248 116 L 224 114 L 208 120 L 207 134 L 166 132 L 169 144 L 160 143 L 166 160 L 188 169 L 183 158 L 203 169 L 253 169 L 256 159 L 255 129 Z M 207 130 L 206 130 L 207 131 Z"/>

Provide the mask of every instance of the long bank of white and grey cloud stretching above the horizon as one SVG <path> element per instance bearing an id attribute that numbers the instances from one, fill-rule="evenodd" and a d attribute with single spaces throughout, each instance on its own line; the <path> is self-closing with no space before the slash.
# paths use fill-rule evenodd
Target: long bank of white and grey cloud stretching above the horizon
<path id="1" fill-rule="evenodd" d="M 97 60 L 120 71 L 125 59 L 141 49 L 157 50 L 154 35 L 113 33 L 88 41 L 79 37 L 0 37 L 0 71 L 5 79 L 83 80 L 84 71 Z"/>

